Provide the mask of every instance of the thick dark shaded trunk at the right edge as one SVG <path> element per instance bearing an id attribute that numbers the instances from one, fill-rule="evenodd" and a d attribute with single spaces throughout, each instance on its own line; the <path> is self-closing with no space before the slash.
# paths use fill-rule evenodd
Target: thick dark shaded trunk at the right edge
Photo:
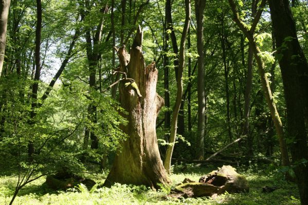
<path id="1" fill-rule="evenodd" d="M 298 42 L 289 2 L 269 0 L 268 3 L 284 87 L 288 138 L 294 140 L 291 144 L 292 160 L 296 163 L 301 204 L 308 204 L 308 167 L 300 163 L 302 159 L 308 159 L 304 120 L 308 108 L 308 64 Z"/>

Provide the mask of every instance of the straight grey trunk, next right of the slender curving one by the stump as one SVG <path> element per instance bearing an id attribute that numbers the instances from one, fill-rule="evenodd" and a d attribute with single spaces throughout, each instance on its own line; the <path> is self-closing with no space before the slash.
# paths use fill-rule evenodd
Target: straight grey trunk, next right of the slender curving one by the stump
<path id="1" fill-rule="evenodd" d="M 197 22 L 197 50 L 198 50 L 198 135 L 197 159 L 204 159 L 205 136 L 205 90 L 204 90 L 204 48 L 203 48 L 203 23 L 206 1 L 195 0 L 195 13 Z"/>

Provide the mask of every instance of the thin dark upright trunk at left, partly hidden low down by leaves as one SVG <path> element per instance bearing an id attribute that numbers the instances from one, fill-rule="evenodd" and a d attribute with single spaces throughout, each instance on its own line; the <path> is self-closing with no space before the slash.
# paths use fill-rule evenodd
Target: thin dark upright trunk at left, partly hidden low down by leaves
<path id="1" fill-rule="evenodd" d="M 42 32 L 42 2 L 37 0 L 37 29 L 35 31 L 35 73 L 34 73 L 34 83 L 32 85 L 32 104 L 30 112 L 30 123 L 34 124 L 34 118 L 36 115 L 35 109 L 38 106 L 38 88 L 39 80 L 41 76 L 41 32 Z M 34 153 L 33 141 L 29 141 L 28 144 L 28 156 L 31 158 Z"/>

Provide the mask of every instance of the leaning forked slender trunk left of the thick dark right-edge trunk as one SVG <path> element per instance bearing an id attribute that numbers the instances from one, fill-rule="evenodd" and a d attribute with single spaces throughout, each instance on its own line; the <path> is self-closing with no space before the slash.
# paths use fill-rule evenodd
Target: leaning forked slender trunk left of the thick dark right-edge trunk
<path id="1" fill-rule="evenodd" d="M 229 4 L 231 6 L 231 10 L 233 12 L 233 20 L 235 23 L 238 25 L 238 27 L 242 30 L 242 32 L 245 34 L 249 41 L 249 45 L 251 46 L 251 49 L 253 51 L 253 55 L 255 56 L 255 59 L 257 61 L 258 69 L 259 69 L 259 74 L 261 78 L 261 84 L 262 84 L 262 89 L 263 89 L 263 94 L 266 99 L 267 106 L 270 111 L 270 115 L 273 118 L 274 125 L 276 128 L 277 135 L 279 136 L 279 145 L 280 145 L 280 152 L 281 152 L 281 158 L 282 158 L 282 164 L 283 166 L 289 166 L 289 158 L 288 158 L 288 153 L 287 153 L 287 148 L 286 148 L 286 143 L 285 143 L 285 138 L 284 138 L 284 133 L 283 133 L 283 128 L 282 128 L 282 122 L 279 117 L 279 113 L 277 111 L 273 95 L 271 94 L 271 90 L 269 87 L 268 79 L 264 70 L 264 62 L 262 58 L 260 57 L 260 49 L 257 46 L 255 39 L 253 38 L 253 33 L 255 31 L 255 28 L 259 22 L 259 18 L 262 14 L 262 9 L 259 9 L 256 17 L 253 19 L 252 26 L 250 30 L 248 30 L 243 22 L 240 20 L 239 13 L 236 9 L 236 6 L 233 2 L 233 0 L 228 0 Z M 261 7 L 265 5 L 266 1 L 262 0 L 261 2 Z"/>

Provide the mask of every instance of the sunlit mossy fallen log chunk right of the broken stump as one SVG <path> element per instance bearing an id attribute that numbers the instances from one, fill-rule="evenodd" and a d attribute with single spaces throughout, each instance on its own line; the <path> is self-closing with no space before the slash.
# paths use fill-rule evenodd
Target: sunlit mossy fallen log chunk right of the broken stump
<path id="1" fill-rule="evenodd" d="M 186 180 L 188 181 L 188 180 Z M 175 187 L 176 197 L 203 197 L 238 192 L 248 192 L 249 186 L 246 178 L 238 174 L 231 166 L 223 166 L 219 170 L 202 176 L 199 182 L 187 182 Z M 175 194 L 177 193 L 177 194 Z"/>

